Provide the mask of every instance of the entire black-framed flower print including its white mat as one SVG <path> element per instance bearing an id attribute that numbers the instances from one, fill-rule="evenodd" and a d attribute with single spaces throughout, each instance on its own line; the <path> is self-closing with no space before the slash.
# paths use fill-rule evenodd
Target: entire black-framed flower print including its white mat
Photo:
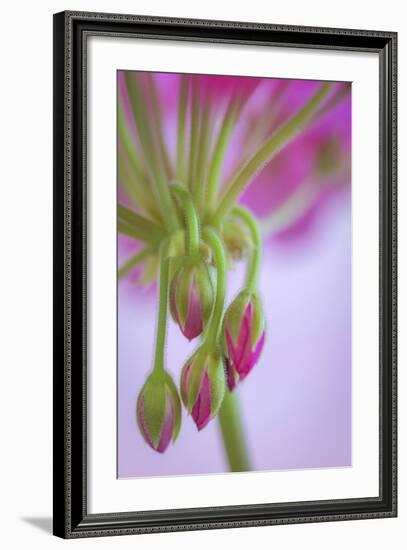
<path id="1" fill-rule="evenodd" d="M 54 534 L 396 515 L 393 32 L 54 16 Z"/>

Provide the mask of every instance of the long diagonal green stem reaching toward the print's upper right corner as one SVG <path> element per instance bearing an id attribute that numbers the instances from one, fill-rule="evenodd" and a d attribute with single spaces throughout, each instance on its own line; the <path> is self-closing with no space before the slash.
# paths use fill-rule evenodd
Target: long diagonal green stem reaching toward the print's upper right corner
<path id="1" fill-rule="evenodd" d="M 245 163 L 232 180 L 213 216 L 212 223 L 217 226 L 233 207 L 233 204 L 245 186 L 263 168 L 263 166 L 280 151 L 312 118 L 322 101 L 331 90 L 331 83 L 324 83 L 312 98 L 285 124 L 269 137 L 260 149 Z"/>

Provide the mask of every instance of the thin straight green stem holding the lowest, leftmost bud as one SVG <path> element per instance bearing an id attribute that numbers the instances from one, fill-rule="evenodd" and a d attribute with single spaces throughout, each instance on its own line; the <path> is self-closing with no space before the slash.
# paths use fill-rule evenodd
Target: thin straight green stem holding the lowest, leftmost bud
<path id="1" fill-rule="evenodd" d="M 154 371 L 164 371 L 165 337 L 167 332 L 169 259 L 166 256 L 167 241 L 160 248 L 160 291 L 157 321 L 157 336 L 155 342 Z"/>

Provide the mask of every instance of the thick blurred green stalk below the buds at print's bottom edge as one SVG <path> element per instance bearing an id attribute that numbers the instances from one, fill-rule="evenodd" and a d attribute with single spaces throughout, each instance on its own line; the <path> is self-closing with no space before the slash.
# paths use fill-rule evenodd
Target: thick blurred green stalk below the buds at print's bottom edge
<path id="1" fill-rule="evenodd" d="M 249 453 L 236 392 L 226 390 L 218 417 L 230 471 L 250 471 Z"/>

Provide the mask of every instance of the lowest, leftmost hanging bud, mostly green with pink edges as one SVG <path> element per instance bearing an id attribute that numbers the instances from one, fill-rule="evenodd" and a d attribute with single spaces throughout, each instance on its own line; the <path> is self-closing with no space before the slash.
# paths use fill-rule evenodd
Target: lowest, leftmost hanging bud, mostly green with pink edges
<path id="1" fill-rule="evenodd" d="M 167 372 L 153 372 L 147 378 L 137 399 L 137 422 L 145 441 L 159 453 L 178 437 L 181 403 Z"/>

